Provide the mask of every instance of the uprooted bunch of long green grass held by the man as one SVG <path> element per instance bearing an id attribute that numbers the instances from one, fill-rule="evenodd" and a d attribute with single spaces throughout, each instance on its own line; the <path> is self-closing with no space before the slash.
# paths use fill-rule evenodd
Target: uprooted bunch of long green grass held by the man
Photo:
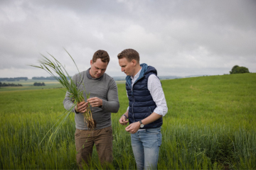
<path id="1" fill-rule="evenodd" d="M 65 50 L 65 51 L 68 53 L 67 50 Z M 68 55 L 73 60 L 73 57 L 71 57 L 71 55 L 69 53 L 68 53 Z M 35 66 L 35 65 L 31 65 L 31 66 L 45 70 L 52 77 L 54 77 L 54 79 L 59 81 L 60 84 L 62 84 L 65 87 L 65 89 L 69 92 L 68 97 L 71 98 L 71 100 L 73 101 L 73 106 L 68 111 L 63 113 L 63 115 L 60 115 L 60 118 L 53 126 L 53 128 L 55 126 L 56 126 L 56 128 L 53 130 L 53 133 L 50 135 L 50 138 L 49 138 L 49 142 L 50 142 L 50 140 L 55 140 L 55 136 L 57 135 L 58 131 L 60 130 L 60 127 L 68 119 L 68 116 L 70 115 L 70 113 L 72 113 L 75 106 L 77 106 L 78 103 L 85 101 L 85 98 L 83 96 L 83 91 L 80 91 L 77 88 L 77 86 L 75 85 L 75 81 L 73 81 L 73 79 L 71 79 L 71 77 L 68 74 L 68 72 L 66 71 L 65 67 L 63 67 L 63 64 L 61 64 L 58 60 L 56 60 L 55 57 L 53 57 L 53 55 L 50 55 L 50 57 L 52 57 L 53 60 L 48 59 L 44 55 L 42 55 L 42 56 L 43 56 L 43 58 L 41 60 L 39 60 L 40 66 Z M 73 60 L 73 62 L 75 64 L 75 60 Z M 76 64 L 75 64 L 75 67 L 78 69 L 78 66 Z M 78 72 L 79 72 L 79 70 L 78 70 Z M 57 74 L 58 76 L 56 76 L 55 74 Z M 80 74 L 80 72 L 79 72 L 79 74 Z M 84 84 L 83 84 L 83 86 L 85 89 Z M 86 91 L 85 91 L 85 94 L 86 94 Z M 87 95 L 87 98 L 90 97 L 90 94 L 86 94 L 86 95 Z M 84 115 L 84 121 L 87 124 L 87 127 L 90 130 L 93 130 L 96 127 L 96 122 L 92 118 L 92 111 L 90 110 L 90 103 L 88 103 L 87 110 L 85 111 L 85 113 L 83 113 L 83 115 Z M 53 128 L 51 128 L 50 130 L 52 130 Z M 47 134 L 50 132 L 50 130 L 47 132 Z M 45 137 L 43 137 L 43 139 Z"/>

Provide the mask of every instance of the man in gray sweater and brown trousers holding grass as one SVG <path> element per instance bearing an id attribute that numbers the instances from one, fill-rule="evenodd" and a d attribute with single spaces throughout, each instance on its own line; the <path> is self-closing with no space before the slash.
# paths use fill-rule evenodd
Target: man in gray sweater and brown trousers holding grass
<path id="1" fill-rule="evenodd" d="M 114 79 L 105 73 L 110 57 L 104 50 L 97 50 L 90 60 L 91 67 L 87 71 L 75 74 L 72 77 L 76 86 L 83 91 L 85 101 L 78 103 L 73 109 L 75 113 L 75 147 L 77 163 L 88 163 L 92 157 L 92 147 L 96 146 L 97 154 L 102 164 L 112 162 L 112 124 L 111 113 L 119 110 L 117 84 Z M 90 94 L 90 98 L 87 95 Z M 65 96 L 63 105 L 70 109 L 73 105 L 69 93 Z M 86 99 L 87 98 L 87 99 Z M 92 118 L 96 121 L 96 128 L 90 130 L 84 121 L 88 103 L 92 111 Z"/>

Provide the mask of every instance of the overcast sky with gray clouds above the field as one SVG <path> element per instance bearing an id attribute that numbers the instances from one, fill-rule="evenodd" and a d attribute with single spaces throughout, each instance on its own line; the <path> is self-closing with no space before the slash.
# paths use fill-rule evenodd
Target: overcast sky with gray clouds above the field
<path id="1" fill-rule="evenodd" d="M 256 72 L 256 1 L 0 0 L 0 77 L 48 77 L 28 64 L 56 57 L 70 75 L 110 55 L 107 74 L 125 76 L 117 54 L 133 48 L 159 76 Z"/>

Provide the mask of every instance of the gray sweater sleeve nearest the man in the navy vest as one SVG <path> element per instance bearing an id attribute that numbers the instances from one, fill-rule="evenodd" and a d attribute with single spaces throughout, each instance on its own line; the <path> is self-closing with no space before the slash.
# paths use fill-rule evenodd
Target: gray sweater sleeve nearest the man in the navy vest
<path id="1" fill-rule="evenodd" d="M 117 113 L 119 110 L 117 84 L 112 79 L 107 92 L 107 101 L 102 100 L 102 109 L 111 113 Z"/>

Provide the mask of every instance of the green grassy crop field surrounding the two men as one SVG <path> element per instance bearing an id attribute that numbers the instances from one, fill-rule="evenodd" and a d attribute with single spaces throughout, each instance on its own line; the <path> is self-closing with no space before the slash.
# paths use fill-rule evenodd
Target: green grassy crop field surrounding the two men
<path id="1" fill-rule="evenodd" d="M 256 169 L 256 74 L 161 83 L 169 111 L 161 129 L 159 169 Z M 125 85 L 117 86 L 120 108 L 112 113 L 114 162 L 107 168 L 136 169 L 129 133 L 118 123 L 128 105 Z M 64 96 L 64 89 L 1 89 L 0 169 L 78 169 L 74 115 L 51 149 L 47 139 L 38 146 L 65 112 Z M 89 166 L 102 169 L 95 151 Z"/>

